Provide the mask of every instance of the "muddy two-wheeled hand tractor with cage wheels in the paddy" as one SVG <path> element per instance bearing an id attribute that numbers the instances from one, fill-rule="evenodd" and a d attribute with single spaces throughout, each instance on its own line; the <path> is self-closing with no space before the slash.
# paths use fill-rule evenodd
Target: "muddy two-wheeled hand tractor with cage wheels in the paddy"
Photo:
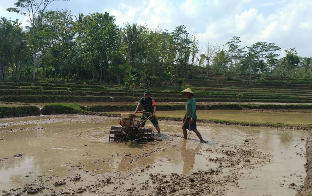
<path id="1" fill-rule="evenodd" d="M 134 123 L 134 118 L 136 118 L 136 116 L 133 114 L 121 113 L 120 117 L 121 118 L 118 120 L 121 126 L 112 126 L 109 132 L 110 142 L 127 143 L 129 140 L 137 142 L 152 142 L 155 140 L 153 129 L 142 127 L 146 120 L 154 117 L 153 115 L 143 121 L 138 120 L 137 123 Z"/>

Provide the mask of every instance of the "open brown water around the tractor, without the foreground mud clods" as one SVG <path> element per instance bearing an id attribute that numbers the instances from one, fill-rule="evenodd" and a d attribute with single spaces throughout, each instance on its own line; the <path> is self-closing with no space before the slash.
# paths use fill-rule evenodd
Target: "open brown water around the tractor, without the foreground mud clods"
<path id="1" fill-rule="evenodd" d="M 303 184 L 307 132 L 199 123 L 198 131 L 209 140 L 204 144 L 194 133 L 188 133 L 189 139 L 183 140 L 180 122 L 159 123 L 169 140 L 124 144 L 108 141 L 110 127 L 118 125 L 116 118 L 59 115 L 0 119 L 0 190 L 23 187 L 40 176 L 64 179 L 73 173 L 73 166 L 95 174 L 116 171 L 125 175 L 141 168 L 162 175 L 217 170 L 222 162 L 208 160 L 225 157 L 221 153 L 224 146 L 256 149 L 270 156 L 270 161 L 251 159 L 254 166 L 224 167 L 224 175 L 240 175 L 240 187 L 227 187 L 226 195 L 294 195 Z M 151 123 L 146 126 L 151 127 Z M 13 157 L 17 154 L 23 156 Z M 92 176 L 84 176 L 79 183 L 86 184 L 93 180 Z M 149 176 L 134 178 L 144 182 Z M 295 185 L 289 186 L 292 183 Z M 70 190 L 72 186 L 67 183 L 62 189 Z"/>

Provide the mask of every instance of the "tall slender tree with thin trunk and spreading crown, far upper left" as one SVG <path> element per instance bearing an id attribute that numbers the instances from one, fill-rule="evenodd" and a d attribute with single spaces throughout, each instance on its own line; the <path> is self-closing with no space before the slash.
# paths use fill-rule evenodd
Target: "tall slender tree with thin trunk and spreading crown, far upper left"
<path id="1" fill-rule="evenodd" d="M 31 28 L 33 33 L 33 80 L 36 77 L 36 63 L 37 63 L 37 49 L 38 49 L 38 34 L 41 28 L 41 22 L 43 19 L 43 14 L 47 6 L 56 0 L 18 0 L 14 5 L 16 7 L 7 8 L 9 12 L 16 12 L 23 16 L 28 17 L 31 22 Z M 66 1 L 66 0 L 64 0 Z"/>

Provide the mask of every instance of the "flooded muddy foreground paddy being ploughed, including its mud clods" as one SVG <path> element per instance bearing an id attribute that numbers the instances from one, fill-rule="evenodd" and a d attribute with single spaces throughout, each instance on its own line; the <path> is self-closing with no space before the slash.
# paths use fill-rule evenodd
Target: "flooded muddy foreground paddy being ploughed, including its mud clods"
<path id="1" fill-rule="evenodd" d="M 198 123 L 209 141 L 200 143 L 182 138 L 181 122 L 159 120 L 154 143 L 110 143 L 117 125 L 83 115 L 0 119 L 1 193 L 295 195 L 306 176 L 308 132 Z"/>

